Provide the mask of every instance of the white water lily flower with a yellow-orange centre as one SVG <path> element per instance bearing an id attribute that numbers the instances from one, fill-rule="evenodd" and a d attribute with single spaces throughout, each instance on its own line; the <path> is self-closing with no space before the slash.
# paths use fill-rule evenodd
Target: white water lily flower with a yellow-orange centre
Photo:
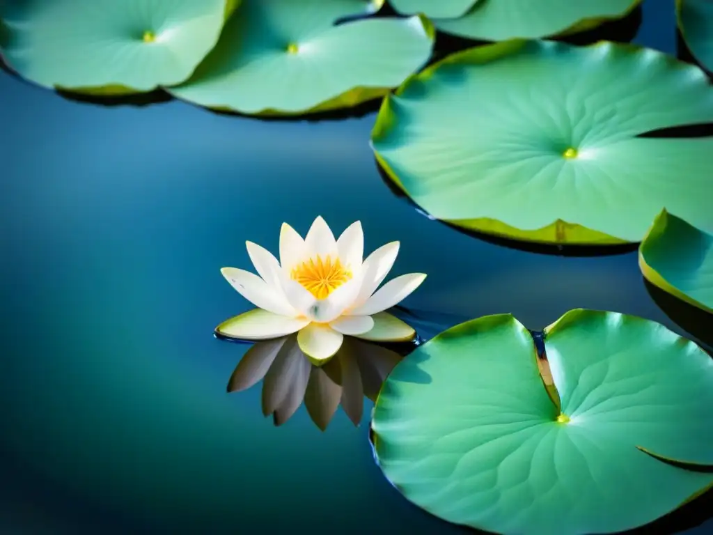
<path id="1" fill-rule="evenodd" d="M 258 275 L 235 267 L 220 272 L 258 308 L 218 325 L 219 335 L 268 340 L 298 332 L 299 348 L 315 364 L 327 362 L 344 335 L 377 342 L 413 340 L 416 332 L 384 312 L 416 290 L 426 275 L 401 275 L 376 290 L 394 265 L 399 242 L 376 249 L 366 260 L 364 232 L 356 221 L 339 240 L 321 217 L 302 237 L 287 223 L 279 235 L 279 261 L 246 242 Z"/>

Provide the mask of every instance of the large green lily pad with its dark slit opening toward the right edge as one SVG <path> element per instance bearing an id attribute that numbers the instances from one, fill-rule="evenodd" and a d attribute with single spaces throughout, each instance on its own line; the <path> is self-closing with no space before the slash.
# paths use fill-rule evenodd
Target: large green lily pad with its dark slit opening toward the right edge
<path id="1" fill-rule="evenodd" d="M 516 40 L 410 78 L 384 99 L 371 146 L 435 218 L 601 245 L 642 240 L 664 207 L 713 230 L 713 138 L 640 137 L 705 121 L 713 88 L 696 66 L 632 45 Z"/>

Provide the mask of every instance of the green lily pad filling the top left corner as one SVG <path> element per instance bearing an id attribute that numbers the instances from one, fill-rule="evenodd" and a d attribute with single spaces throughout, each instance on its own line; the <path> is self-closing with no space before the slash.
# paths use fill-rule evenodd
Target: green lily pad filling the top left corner
<path id="1" fill-rule="evenodd" d="M 1 54 L 48 88 L 120 95 L 188 78 L 237 0 L 0 0 Z"/>

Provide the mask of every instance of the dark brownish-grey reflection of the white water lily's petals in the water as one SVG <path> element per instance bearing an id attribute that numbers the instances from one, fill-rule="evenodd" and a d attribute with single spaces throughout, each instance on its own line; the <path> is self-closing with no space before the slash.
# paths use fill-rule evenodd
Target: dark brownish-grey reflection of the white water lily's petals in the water
<path id="1" fill-rule="evenodd" d="M 364 411 L 364 397 L 374 401 L 386 376 L 401 356 L 385 347 L 353 338 L 325 365 L 312 365 L 299 349 L 297 335 L 257 342 L 242 357 L 227 385 L 228 392 L 241 392 L 264 379 L 262 413 L 282 425 L 304 402 L 309 417 L 319 429 L 342 405 L 354 425 Z"/>

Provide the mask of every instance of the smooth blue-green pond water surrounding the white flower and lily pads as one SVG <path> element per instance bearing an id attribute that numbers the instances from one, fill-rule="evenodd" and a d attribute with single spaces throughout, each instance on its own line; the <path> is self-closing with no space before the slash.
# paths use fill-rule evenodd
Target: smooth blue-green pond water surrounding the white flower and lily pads
<path id="1" fill-rule="evenodd" d="M 645 2 L 635 42 L 675 53 L 672 4 Z M 647 289 L 635 251 L 524 251 L 424 217 L 379 175 L 374 113 L 97 106 L 4 72 L 0 96 L 3 533 L 465 531 L 381 476 L 368 400 L 360 427 L 339 409 L 322 432 L 304 406 L 275 427 L 260 384 L 227 394 L 249 346 L 212 330 L 250 304 L 219 270 L 252 269 L 245 240 L 276 251 L 283 221 L 361 220 L 368 252 L 400 240 L 391 276 L 429 274 L 403 303 L 424 338 L 498 312 L 540 330 L 576 307 L 705 335 L 709 318 Z M 654 532 L 713 532 L 711 501 Z"/>

